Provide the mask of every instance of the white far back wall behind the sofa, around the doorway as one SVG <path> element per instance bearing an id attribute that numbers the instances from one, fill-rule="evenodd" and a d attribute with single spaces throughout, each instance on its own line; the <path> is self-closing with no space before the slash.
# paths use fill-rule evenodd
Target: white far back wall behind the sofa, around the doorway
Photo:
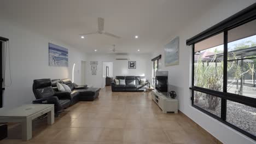
<path id="1" fill-rule="evenodd" d="M 102 62 L 113 62 L 113 77 L 115 76 L 146 76 L 152 79 L 152 65 L 150 54 L 131 54 L 129 61 L 136 61 L 136 69 L 128 69 L 127 60 L 116 60 L 113 54 L 91 54 L 88 55 L 88 67 L 86 81 L 87 85 L 102 87 Z M 97 75 L 91 75 L 90 61 L 98 61 Z"/>

